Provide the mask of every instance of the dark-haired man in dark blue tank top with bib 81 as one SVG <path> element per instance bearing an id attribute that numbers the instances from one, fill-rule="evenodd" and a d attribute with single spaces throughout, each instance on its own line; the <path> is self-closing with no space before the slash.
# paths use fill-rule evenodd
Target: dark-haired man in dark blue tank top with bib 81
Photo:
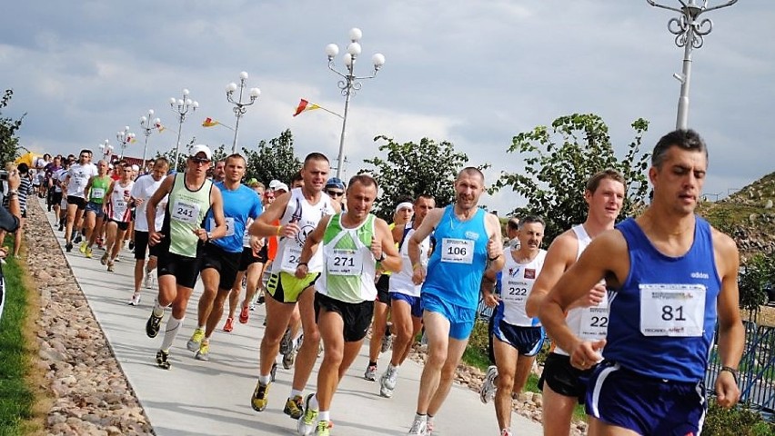
<path id="1" fill-rule="evenodd" d="M 605 358 L 586 398 L 595 434 L 699 434 L 717 320 L 717 401 L 730 408 L 740 399 L 740 255 L 729 236 L 694 214 L 707 148 L 694 131 L 677 130 L 659 139 L 651 165 L 649 208 L 593 240 L 540 309 L 547 332 L 569 351 L 571 364 L 583 370 Z M 563 311 L 601 278 L 615 291 L 608 336 L 582 341 Z"/>

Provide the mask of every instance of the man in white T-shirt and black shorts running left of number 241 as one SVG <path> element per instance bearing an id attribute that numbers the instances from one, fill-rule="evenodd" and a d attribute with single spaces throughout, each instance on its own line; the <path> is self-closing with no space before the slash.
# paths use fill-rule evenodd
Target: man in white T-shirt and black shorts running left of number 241
<path id="1" fill-rule="evenodd" d="M 169 170 L 169 161 L 164 157 L 159 157 L 154 163 L 150 173 L 141 176 L 135 182 L 132 188 L 132 203 L 135 204 L 135 288 L 132 298 L 129 300 L 130 306 L 136 306 L 140 303 L 140 282 L 147 289 L 154 286 L 154 270 L 158 259 L 158 245 L 149 246 L 148 244 L 148 221 L 146 217 L 146 206 L 148 199 L 156 193 L 161 187 L 166 172 Z M 155 228 L 160 229 L 164 225 L 166 215 L 166 198 L 156 207 Z M 146 252 L 148 263 L 146 264 Z M 145 279 L 144 279 L 145 277 Z"/>

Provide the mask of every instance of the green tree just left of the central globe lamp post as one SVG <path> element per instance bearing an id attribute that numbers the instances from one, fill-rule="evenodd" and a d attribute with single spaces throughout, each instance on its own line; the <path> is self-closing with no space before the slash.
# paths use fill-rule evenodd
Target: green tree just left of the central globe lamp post
<path id="1" fill-rule="evenodd" d="M 255 177 L 268 185 L 272 180 L 290 183 L 294 174 L 301 170 L 301 161 L 293 149 L 293 134 L 286 129 L 277 138 L 261 140 L 256 150 L 242 149 L 247 159 L 246 178 Z"/>

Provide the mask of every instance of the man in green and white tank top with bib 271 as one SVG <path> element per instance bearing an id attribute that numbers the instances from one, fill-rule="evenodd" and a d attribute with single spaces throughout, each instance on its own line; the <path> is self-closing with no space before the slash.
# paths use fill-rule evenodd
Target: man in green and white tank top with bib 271
<path id="1" fill-rule="evenodd" d="M 323 253 L 323 272 L 315 282 L 318 329 L 325 352 L 317 372 L 317 391 L 307 395 L 299 434 L 327 436 L 331 401 L 341 377 L 357 357 L 366 337 L 377 298 L 377 262 L 389 271 L 401 269 L 401 256 L 387 223 L 372 215 L 377 182 L 366 174 L 350 179 L 347 212 L 320 220 L 307 235 L 296 276 L 309 271 L 307 263 Z M 322 243 L 322 247 L 318 245 Z"/>

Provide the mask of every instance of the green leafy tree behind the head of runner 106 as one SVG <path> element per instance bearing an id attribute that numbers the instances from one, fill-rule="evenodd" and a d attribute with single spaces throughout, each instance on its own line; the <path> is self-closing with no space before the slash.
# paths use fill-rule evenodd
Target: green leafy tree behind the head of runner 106
<path id="1" fill-rule="evenodd" d="M 389 223 L 393 208 L 403 197 L 416 198 L 421 193 L 433 195 L 437 206 L 446 206 L 455 200 L 452 184 L 458 172 L 468 163 L 468 155 L 455 151 L 448 141 L 437 143 L 422 138 L 419 144 L 400 144 L 385 135 L 379 135 L 374 141 L 384 140 L 379 145 L 380 152 L 387 152 L 387 158 L 378 156 L 364 159 L 374 165 L 373 170 L 360 170 L 358 173 L 372 173 L 379 183 L 381 196 L 377 198 L 375 213 Z M 488 164 L 480 168 L 488 167 Z"/>

